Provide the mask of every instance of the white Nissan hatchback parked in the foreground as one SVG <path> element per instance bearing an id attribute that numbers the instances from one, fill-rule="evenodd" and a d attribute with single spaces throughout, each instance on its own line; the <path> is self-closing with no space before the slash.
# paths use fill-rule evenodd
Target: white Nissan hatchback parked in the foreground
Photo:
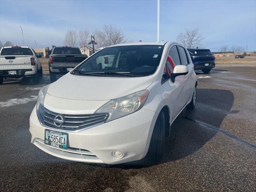
<path id="1" fill-rule="evenodd" d="M 172 122 L 186 106 L 195 107 L 196 86 L 194 65 L 180 44 L 103 48 L 40 90 L 31 142 L 66 160 L 154 164 Z"/>

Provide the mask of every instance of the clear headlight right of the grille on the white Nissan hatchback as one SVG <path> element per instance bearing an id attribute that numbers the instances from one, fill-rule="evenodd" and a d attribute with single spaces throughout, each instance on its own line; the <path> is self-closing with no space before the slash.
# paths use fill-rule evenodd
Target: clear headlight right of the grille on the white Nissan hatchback
<path id="1" fill-rule="evenodd" d="M 149 90 L 142 90 L 121 98 L 112 99 L 101 106 L 96 113 L 109 113 L 106 122 L 134 113 L 142 108 Z"/>

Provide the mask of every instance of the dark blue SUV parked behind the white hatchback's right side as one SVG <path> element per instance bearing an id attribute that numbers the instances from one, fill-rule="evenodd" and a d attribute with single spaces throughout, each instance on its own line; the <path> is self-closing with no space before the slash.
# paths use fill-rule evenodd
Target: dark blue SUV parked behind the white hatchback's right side
<path id="1" fill-rule="evenodd" d="M 188 52 L 194 63 L 194 69 L 200 69 L 204 73 L 209 73 L 215 67 L 215 56 L 209 49 L 188 48 Z"/>

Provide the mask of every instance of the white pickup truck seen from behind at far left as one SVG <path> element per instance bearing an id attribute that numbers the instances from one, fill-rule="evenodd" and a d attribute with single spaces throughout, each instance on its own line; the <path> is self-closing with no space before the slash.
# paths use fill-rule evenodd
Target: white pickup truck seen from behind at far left
<path id="1" fill-rule="evenodd" d="M 31 76 L 35 83 L 42 78 L 40 59 L 30 47 L 2 47 L 0 50 L 0 84 L 3 79 Z"/>

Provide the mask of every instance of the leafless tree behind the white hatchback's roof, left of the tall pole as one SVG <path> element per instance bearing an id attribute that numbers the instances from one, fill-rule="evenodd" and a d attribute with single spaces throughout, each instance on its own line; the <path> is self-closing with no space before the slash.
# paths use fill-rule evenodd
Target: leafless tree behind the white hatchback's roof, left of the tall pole
<path id="1" fill-rule="evenodd" d="M 99 47 L 127 42 L 122 29 L 114 28 L 112 25 L 105 25 L 103 30 L 96 30 L 95 40 Z"/>

